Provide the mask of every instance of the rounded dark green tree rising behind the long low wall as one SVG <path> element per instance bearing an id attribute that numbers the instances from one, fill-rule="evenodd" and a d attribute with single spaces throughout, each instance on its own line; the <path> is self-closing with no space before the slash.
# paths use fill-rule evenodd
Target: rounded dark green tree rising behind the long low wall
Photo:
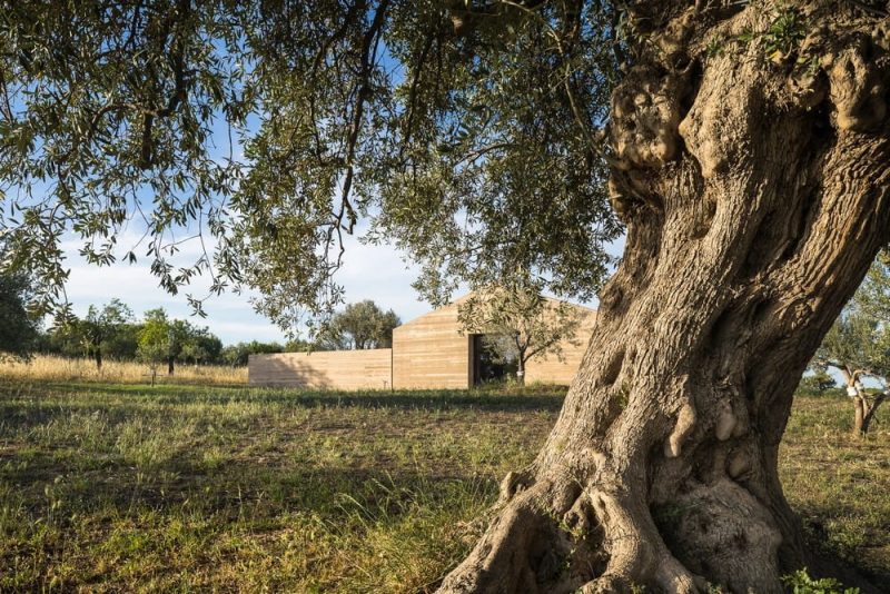
<path id="1" fill-rule="evenodd" d="M 370 299 L 349 304 L 335 314 L 318 335 L 319 348 L 352 350 L 393 346 L 393 329 L 402 324 L 395 311 L 384 311 Z"/>

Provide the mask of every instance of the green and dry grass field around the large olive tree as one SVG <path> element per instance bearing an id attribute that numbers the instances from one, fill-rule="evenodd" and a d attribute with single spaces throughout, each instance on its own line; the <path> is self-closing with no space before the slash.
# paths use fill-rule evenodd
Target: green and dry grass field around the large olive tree
<path id="1" fill-rule="evenodd" d="M 0 591 L 427 592 L 563 393 L 0 385 Z M 784 484 L 814 543 L 890 583 L 890 432 L 798 400 Z"/>

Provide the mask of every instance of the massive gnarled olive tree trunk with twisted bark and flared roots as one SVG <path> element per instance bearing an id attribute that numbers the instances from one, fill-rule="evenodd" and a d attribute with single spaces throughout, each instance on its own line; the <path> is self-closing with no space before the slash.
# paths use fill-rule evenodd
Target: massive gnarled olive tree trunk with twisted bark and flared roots
<path id="1" fill-rule="evenodd" d="M 442 592 L 763 594 L 807 563 L 779 442 L 888 239 L 889 40 L 854 3 L 797 8 L 779 53 L 769 2 L 631 8 L 624 257 L 553 432 Z"/>

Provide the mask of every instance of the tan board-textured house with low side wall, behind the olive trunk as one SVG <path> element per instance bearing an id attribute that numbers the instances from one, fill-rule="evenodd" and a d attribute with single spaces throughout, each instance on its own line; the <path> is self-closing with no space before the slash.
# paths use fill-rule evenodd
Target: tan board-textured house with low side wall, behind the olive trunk
<path id="1" fill-rule="evenodd" d="M 253 386 L 329 389 L 475 386 L 482 382 L 483 335 L 462 334 L 457 308 L 464 299 L 466 297 L 395 328 L 393 348 L 250 355 L 248 382 Z M 574 307 L 582 318 L 575 344 L 562 345 L 562 360 L 555 355 L 530 359 L 525 369 L 527 383 L 567 385 L 574 377 L 596 318 L 595 310 Z"/>

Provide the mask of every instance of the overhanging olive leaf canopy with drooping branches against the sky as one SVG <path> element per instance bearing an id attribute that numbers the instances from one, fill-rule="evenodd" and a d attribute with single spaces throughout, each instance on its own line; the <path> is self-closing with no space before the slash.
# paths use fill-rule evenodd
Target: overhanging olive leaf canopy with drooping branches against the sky
<path id="1" fill-rule="evenodd" d="M 59 307 L 73 234 L 98 265 L 148 258 L 171 293 L 198 274 L 259 289 L 287 326 L 342 301 L 332 274 L 362 225 L 422 264 L 435 303 L 516 267 L 590 298 L 620 231 L 600 139 L 617 18 L 596 1 L 3 3 L 9 264 Z M 142 239 L 118 245 L 127 229 Z"/>

